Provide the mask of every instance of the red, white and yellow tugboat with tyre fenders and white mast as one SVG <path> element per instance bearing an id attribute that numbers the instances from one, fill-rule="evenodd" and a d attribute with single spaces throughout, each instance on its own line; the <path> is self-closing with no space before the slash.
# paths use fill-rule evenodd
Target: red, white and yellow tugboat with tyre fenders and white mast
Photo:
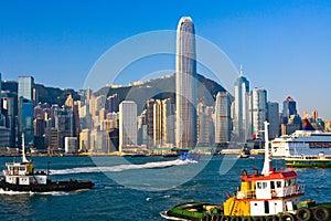
<path id="1" fill-rule="evenodd" d="M 265 123 L 265 162 L 261 173 L 245 170 L 234 196 L 221 206 L 204 202 L 179 204 L 160 214 L 170 220 L 203 221 L 330 221 L 331 202 L 300 201 L 305 186 L 293 170 L 270 168 L 268 123 Z"/>

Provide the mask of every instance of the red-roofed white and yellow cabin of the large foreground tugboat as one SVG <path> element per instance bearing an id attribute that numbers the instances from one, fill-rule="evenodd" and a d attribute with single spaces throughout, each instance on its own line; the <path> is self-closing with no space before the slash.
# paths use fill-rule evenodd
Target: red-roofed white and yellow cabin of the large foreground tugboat
<path id="1" fill-rule="evenodd" d="M 297 183 L 298 175 L 293 170 L 270 168 L 268 175 L 244 171 L 241 178 L 238 191 L 224 203 L 227 215 L 273 215 L 292 211 L 303 194 L 303 186 Z"/>

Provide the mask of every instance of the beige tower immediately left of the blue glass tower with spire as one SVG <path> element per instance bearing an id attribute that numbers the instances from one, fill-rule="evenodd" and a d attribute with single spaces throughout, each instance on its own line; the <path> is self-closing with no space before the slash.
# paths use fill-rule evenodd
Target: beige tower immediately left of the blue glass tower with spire
<path id="1" fill-rule="evenodd" d="M 218 92 L 215 102 L 215 143 L 231 141 L 231 98 L 227 92 Z"/>

